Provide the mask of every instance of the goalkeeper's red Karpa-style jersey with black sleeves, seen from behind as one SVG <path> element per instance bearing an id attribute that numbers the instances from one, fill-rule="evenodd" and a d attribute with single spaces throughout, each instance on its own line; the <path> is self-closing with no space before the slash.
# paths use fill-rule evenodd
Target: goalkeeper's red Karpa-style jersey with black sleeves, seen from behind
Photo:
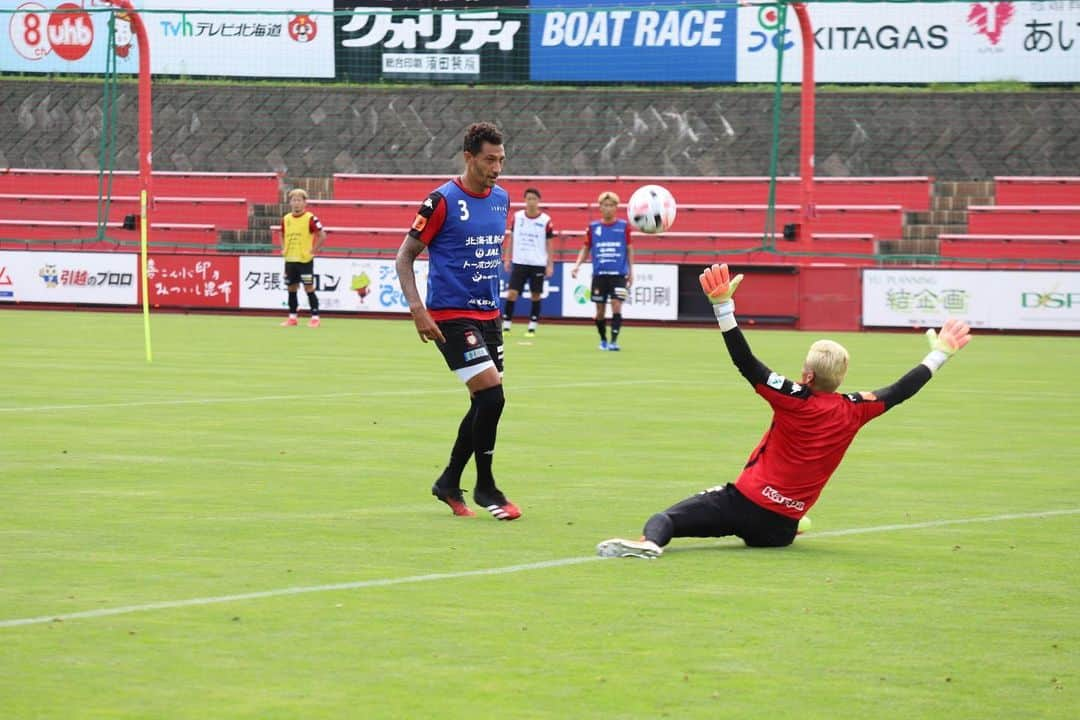
<path id="1" fill-rule="evenodd" d="M 724 340 L 740 372 L 773 411 L 735 487 L 751 502 L 796 519 L 818 501 L 859 430 L 914 395 L 931 376 L 918 365 L 873 393 L 818 393 L 754 357 L 738 327 Z"/>

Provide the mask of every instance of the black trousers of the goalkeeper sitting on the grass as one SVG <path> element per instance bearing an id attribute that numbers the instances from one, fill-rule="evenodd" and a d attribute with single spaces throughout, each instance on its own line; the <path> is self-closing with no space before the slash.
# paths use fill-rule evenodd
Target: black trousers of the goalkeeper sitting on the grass
<path id="1" fill-rule="evenodd" d="M 786 547 L 799 527 L 798 520 L 751 502 L 731 483 L 687 498 L 664 514 L 675 538 L 735 535 L 751 547 Z"/>

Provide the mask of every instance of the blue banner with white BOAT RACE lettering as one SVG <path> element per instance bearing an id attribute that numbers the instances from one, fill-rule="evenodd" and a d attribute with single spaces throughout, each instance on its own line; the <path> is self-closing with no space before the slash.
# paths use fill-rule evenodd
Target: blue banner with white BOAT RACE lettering
<path id="1" fill-rule="evenodd" d="M 658 6 L 629 0 L 595 10 L 593 0 L 532 0 L 535 81 L 734 82 L 734 6 Z"/>

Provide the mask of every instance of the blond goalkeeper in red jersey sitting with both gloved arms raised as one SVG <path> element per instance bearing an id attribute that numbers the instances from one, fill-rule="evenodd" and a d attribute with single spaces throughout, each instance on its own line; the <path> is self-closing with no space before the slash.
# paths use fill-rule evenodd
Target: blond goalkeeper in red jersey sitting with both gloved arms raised
<path id="1" fill-rule="evenodd" d="M 900 380 L 872 393 L 836 392 L 848 371 L 848 351 L 832 340 L 810 345 L 794 382 L 754 356 L 735 323 L 731 296 L 742 275 L 714 264 L 701 275 L 724 343 L 739 372 L 772 407 L 772 423 L 734 484 L 687 498 L 645 524 L 640 540 L 613 538 L 596 546 L 603 557 L 656 558 L 672 538 L 735 535 L 751 547 L 784 547 L 859 430 L 919 392 L 934 372 L 971 340 L 970 328 L 948 320 L 928 331 L 930 353 Z"/>

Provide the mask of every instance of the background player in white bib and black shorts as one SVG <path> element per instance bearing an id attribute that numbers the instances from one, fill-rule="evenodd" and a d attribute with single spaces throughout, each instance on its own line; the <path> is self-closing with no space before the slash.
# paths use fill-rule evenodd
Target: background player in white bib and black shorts
<path id="1" fill-rule="evenodd" d="M 510 332 L 514 317 L 514 303 L 517 296 L 525 289 L 525 281 L 529 282 L 529 296 L 532 307 L 529 310 L 529 328 L 526 338 L 536 335 L 540 322 L 540 296 L 543 293 L 544 277 L 551 277 L 554 268 L 552 261 L 552 239 L 555 229 L 551 217 L 540 209 L 540 191 L 536 188 L 525 190 L 525 209 L 514 213 L 514 222 L 507 230 L 507 242 L 502 252 L 502 262 L 510 273 L 510 287 L 507 289 L 507 302 L 502 309 L 502 331 Z"/>

